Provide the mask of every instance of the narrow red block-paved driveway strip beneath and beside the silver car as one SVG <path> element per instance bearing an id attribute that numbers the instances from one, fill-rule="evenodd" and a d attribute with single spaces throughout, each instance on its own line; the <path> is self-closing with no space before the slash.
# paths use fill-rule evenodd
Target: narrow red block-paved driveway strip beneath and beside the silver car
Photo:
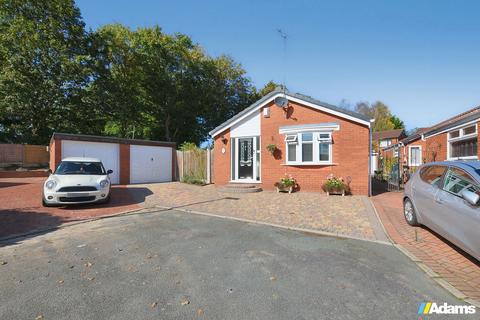
<path id="1" fill-rule="evenodd" d="M 408 225 L 402 197 L 403 193 L 387 192 L 372 198 L 391 239 L 465 296 L 480 302 L 480 263 L 428 228 Z"/>

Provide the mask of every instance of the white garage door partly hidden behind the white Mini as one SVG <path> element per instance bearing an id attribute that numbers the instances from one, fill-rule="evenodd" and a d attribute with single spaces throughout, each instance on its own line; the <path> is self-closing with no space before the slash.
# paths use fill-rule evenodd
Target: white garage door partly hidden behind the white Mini
<path id="1" fill-rule="evenodd" d="M 119 147 L 116 143 L 62 140 L 62 159 L 67 157 L 92 157 L 102 160 L 105 170 L 113 170 L 112 183 L 120 183 Z"/>

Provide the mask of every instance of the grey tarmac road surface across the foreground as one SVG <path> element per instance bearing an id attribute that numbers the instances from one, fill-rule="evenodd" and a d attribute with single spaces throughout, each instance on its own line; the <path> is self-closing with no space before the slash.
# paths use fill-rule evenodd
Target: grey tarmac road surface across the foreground
<path id="1" fill-rule="evenodd" d="M 7 243 L 0 261 L 0 319 L 418 319 L 422 301 L 462 304 L 391 245 L 175 211 Z"/>

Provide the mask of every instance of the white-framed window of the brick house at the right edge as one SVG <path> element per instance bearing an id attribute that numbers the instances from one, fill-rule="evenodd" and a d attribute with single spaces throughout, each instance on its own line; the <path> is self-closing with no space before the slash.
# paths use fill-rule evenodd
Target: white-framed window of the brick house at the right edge
<path id="1" fill-rule="evenodd" d="M 449 159 L 477 158 L 477 125 L 470 125 L 448 133 Z"/>

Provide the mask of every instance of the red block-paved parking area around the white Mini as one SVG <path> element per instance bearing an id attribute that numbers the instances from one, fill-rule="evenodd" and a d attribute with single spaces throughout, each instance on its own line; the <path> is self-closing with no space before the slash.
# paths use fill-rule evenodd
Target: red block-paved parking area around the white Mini
<path id="1" fill-rule="evenodd" d="M 150 194 L 145 188 L 137 188 L 132 194 L 125 187 L 114 186 L 109 204 L 44 208 L 42 184 L 45 180 L 0 179 L 0 238 L 138 209 L 139 203 Z"/>

